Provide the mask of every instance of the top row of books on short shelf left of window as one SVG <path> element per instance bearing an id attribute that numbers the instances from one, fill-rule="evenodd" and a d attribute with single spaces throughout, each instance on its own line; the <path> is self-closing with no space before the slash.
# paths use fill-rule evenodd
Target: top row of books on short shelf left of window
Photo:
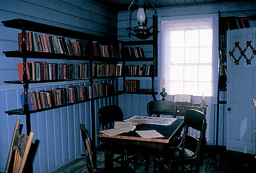
<path id="1" fill-rule="evenodd" d="M 124 47 L 123 57 L 129 58 L 145 58 L 144 50 L 140 47 Z"/>

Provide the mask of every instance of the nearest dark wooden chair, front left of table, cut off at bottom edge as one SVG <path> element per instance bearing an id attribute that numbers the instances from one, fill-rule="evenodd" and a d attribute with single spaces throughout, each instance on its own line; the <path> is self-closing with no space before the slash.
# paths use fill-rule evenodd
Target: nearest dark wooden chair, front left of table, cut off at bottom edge
<path id="1" fill-rule="evenodd" d="M 105 172 L 104 168 L 98 168 L 96 163 L 93 162 L 93 159 L 92 159 L 93 154 L 96 154 L 96 153 L 92 152 L 88 130 L 85 129 L 84 124 L 80 124 L 80 129 L 82 134 L 82 141 L 84 142 L 84 148 L 85 148 L 86 166 L 89 173 Z M 109 172 L 135 173 L 133 168 L 128 166 L 113 167 L 112 170 L 109 170 Z"/>

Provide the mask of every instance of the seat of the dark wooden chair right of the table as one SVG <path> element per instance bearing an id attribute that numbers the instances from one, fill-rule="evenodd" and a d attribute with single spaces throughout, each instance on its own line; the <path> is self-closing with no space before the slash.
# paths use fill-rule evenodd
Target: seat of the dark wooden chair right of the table
<path id="1" fill-rule="evenodd" d="M 189 158 L 195 158 L 195 153 L 188 149 L 182 149 L 181 147 L 177 147 L 174 149 L 170 149 L 167 154 L 168 161 L 183 161 Z"/>

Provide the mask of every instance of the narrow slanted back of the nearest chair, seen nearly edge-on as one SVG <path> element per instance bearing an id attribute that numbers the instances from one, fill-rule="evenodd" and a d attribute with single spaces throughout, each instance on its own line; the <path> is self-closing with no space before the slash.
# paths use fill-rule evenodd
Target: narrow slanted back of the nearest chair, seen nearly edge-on
<path id="1" fill-rule="evenodd" d="M 85 161 L 86 166 L 89 173 L 96 172 L 96 166 L 93 163 L 93 153 L 92 153 L 92 146 L 90 145 L 90 137 L 88 130 L 85 128 L 84 124 L 80 124 L 81 134 L 82 134 L 82 141 L 84 142 L 84 149 L 85 149 Z"/>

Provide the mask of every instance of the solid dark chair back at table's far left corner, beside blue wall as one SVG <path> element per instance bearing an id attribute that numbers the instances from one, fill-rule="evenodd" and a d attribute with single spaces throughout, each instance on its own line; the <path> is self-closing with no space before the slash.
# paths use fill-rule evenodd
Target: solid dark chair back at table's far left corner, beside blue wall
<path id="1" fill-rule="evenodd" d="M 113 127 L 114 121 L 123 120 L 123 111 L 117 105 L 104 106 L 98 110 L 98 119 L 101 130 L 105 130 Z"/>

